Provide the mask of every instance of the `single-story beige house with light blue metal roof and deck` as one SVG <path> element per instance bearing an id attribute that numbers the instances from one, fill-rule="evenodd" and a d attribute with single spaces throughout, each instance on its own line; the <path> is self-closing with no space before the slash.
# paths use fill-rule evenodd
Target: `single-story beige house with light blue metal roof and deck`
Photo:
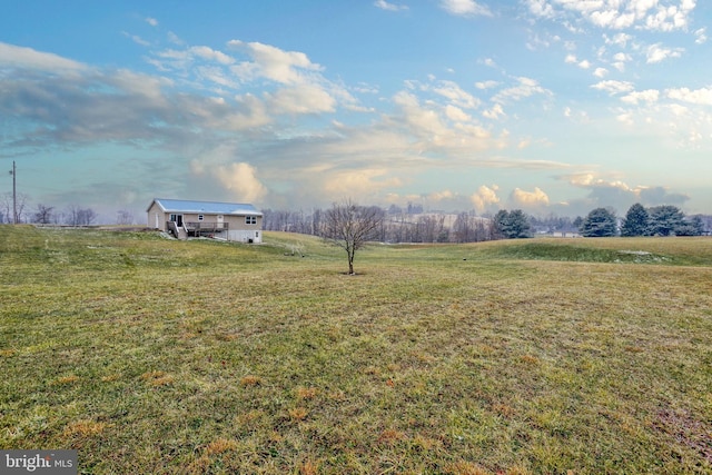
<path id="1" fill-rule="evenodd" d="M 178 239 L 211 237 L 261 243 L 263 214 L 253 205 L 155 198 L 148 209 L 148 226 L 171 232 Z"/>

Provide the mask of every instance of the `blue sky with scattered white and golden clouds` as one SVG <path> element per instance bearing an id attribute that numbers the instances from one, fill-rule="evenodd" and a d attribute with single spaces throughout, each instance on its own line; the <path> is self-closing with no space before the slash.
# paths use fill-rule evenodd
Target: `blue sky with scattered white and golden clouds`
<path id="1" fill-rule="evenodd" d="M 709 1 L 7 3 L 0 167 L 30 211 L 712 214 Z"/>

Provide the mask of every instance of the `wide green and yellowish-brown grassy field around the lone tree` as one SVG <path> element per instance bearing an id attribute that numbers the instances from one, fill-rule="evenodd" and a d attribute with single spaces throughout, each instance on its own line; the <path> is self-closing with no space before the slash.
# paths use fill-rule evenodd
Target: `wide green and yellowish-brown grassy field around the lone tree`
<path id="1" fill-rule="evenodd" d="M 80 473 L 712 473 L 712 239 L 0 227 L 0 448 Z"/>

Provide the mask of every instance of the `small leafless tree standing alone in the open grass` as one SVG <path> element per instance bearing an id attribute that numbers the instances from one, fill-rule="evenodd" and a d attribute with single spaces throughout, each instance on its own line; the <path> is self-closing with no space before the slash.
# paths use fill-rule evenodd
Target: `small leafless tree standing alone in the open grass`
<path id="1" fill-rule="evenodd" d="M 372 240 L 383 221 L 378 207 L 358 206 L 350 199 L 335 202 L 324 216 L 322 236 L 346 250 L 348 274 L 354 275 L 356 251 Z"/>

